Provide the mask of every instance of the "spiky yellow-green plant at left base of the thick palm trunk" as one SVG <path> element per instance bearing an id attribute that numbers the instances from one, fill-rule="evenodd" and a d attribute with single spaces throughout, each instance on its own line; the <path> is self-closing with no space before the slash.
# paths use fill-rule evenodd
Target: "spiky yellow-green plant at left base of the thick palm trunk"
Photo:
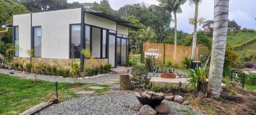
<path id="1" fill-rule="evenodd" d="M 199 96 L 206 93 L 206 88 L 209 90 L 209 86 L 206 82 L 205 68 L 201 68 L 197 65 L 195 70 L 190 69 L 188 78 L 187 82 L 189 87 L 195 87 Z"/>

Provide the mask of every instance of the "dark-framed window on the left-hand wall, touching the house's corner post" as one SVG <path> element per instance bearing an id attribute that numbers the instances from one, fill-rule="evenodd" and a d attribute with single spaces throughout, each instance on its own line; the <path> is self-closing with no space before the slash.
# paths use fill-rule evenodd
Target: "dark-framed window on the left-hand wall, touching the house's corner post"
<path id="1" fill-rule="evenodd" d="M 71 26 L 71 58 L 80 58 L 80 25 Z"/>

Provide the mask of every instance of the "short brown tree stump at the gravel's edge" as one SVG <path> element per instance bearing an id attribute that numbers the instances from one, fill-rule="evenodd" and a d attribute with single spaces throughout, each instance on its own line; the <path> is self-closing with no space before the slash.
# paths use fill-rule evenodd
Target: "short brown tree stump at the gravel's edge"
<path id="1" fill-rule="evenodd" d="M 120 90 L 132 89 L 132 82 L 129 75 L 120 75 Z"/>

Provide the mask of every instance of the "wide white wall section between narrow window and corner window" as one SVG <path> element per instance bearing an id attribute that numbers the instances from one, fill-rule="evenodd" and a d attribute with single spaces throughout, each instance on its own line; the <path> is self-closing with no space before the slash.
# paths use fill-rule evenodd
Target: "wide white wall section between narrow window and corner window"
<path id="1" fill-rule="evenodd" d="M 69 58 L 69 25 L 81 23 L 81 9 L 32 14 L 32 26 L 41 26 L 41 57 Z"/>

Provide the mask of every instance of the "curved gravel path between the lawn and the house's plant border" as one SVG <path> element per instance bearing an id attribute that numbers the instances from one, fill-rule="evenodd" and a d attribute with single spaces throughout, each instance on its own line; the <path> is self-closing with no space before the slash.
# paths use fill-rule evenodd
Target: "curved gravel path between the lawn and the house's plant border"
<path id="1" fill-rule="evenodd" d="M 2 74 L 9 74 L 10 70 L 4 69 L 4 68 L 0 68 L 0 73 Z M 14 71 L 14 74 L 11 76 L 18 76 L 18 77 L 23 77 L 23 78 L 28 78 L 28 79 L 34 79 L 34 76 L 32 74 L 22 74 L 19 71 Z M 45 81 L 52 81 L 52 82 L 69 82 L 69 83 L 73 83 L 73 79 L 72 78 L 64 78 L 64 77 L 60 77 L 60 76 L 49 76 L 49 75 L 36 75 L 37 79 L 40 80 L 45 80 Z M 85 79 L 77 79 L 77 82 L 81 82 L 81 83 L 104 83 L 107 81 L 111 81 L 113 79 L 118 79 L 119 75 L 117 74 L 105 74 L 105 75 L 99 75 L 96 77 L 91 77 L 91 78 L 85 78 Z"/>

